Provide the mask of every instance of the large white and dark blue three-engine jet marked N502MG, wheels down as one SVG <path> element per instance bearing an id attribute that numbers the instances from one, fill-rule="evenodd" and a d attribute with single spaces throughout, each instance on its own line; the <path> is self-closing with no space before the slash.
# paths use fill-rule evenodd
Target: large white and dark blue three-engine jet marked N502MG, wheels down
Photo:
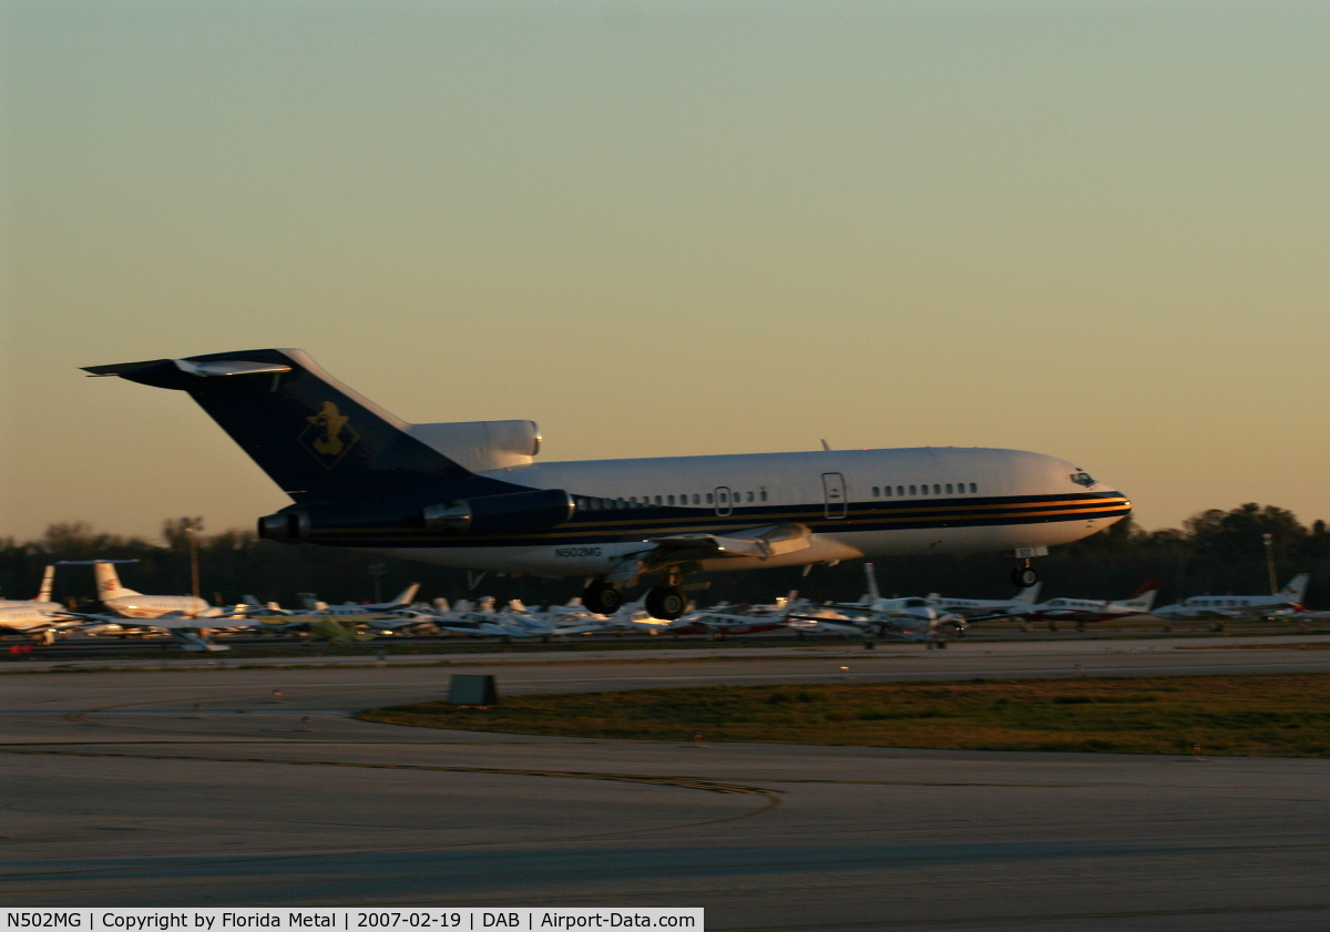
<path id="1" fill-rule="evenodd" d="M 1130 512 L 1067 460 L 914 448 L 536 463 L 529 420 L 408 424 L 301 350 L 94 366 L 188 392 L 294 504 L 259 536 L 479 570 L 588 577 L 612 614 L 645 576 L 657 618 L 684 614 L 685 576 L 904 553 L 1029 556 Z"/>

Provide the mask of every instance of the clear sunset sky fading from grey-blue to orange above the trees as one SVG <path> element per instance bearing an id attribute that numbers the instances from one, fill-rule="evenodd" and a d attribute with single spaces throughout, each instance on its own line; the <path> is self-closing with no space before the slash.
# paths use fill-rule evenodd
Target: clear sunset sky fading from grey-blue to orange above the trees
<path id="1" fill-rule="evenodd" d="M 302 347 L 549 459 L 1055 453 L 1330 519 L 1330 4 L 11 1 L 0 533 L 286 504 Z"/>

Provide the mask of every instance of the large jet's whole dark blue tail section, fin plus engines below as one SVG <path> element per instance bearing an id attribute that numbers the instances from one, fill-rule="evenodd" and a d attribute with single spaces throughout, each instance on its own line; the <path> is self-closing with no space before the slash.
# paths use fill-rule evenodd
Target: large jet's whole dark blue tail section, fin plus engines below
<path id="1" fill-rule="evenodd" d="M 189 394 L 295 505 L 259 519 L 259 536 L 360 544 L 366 533 L 504 534 L 572 519 L 564 489 L 491 471 L 532 463 L 529 420 L 408 424 L 325 372 L 301 350 L 241 350 L 92 366 Z"/>

